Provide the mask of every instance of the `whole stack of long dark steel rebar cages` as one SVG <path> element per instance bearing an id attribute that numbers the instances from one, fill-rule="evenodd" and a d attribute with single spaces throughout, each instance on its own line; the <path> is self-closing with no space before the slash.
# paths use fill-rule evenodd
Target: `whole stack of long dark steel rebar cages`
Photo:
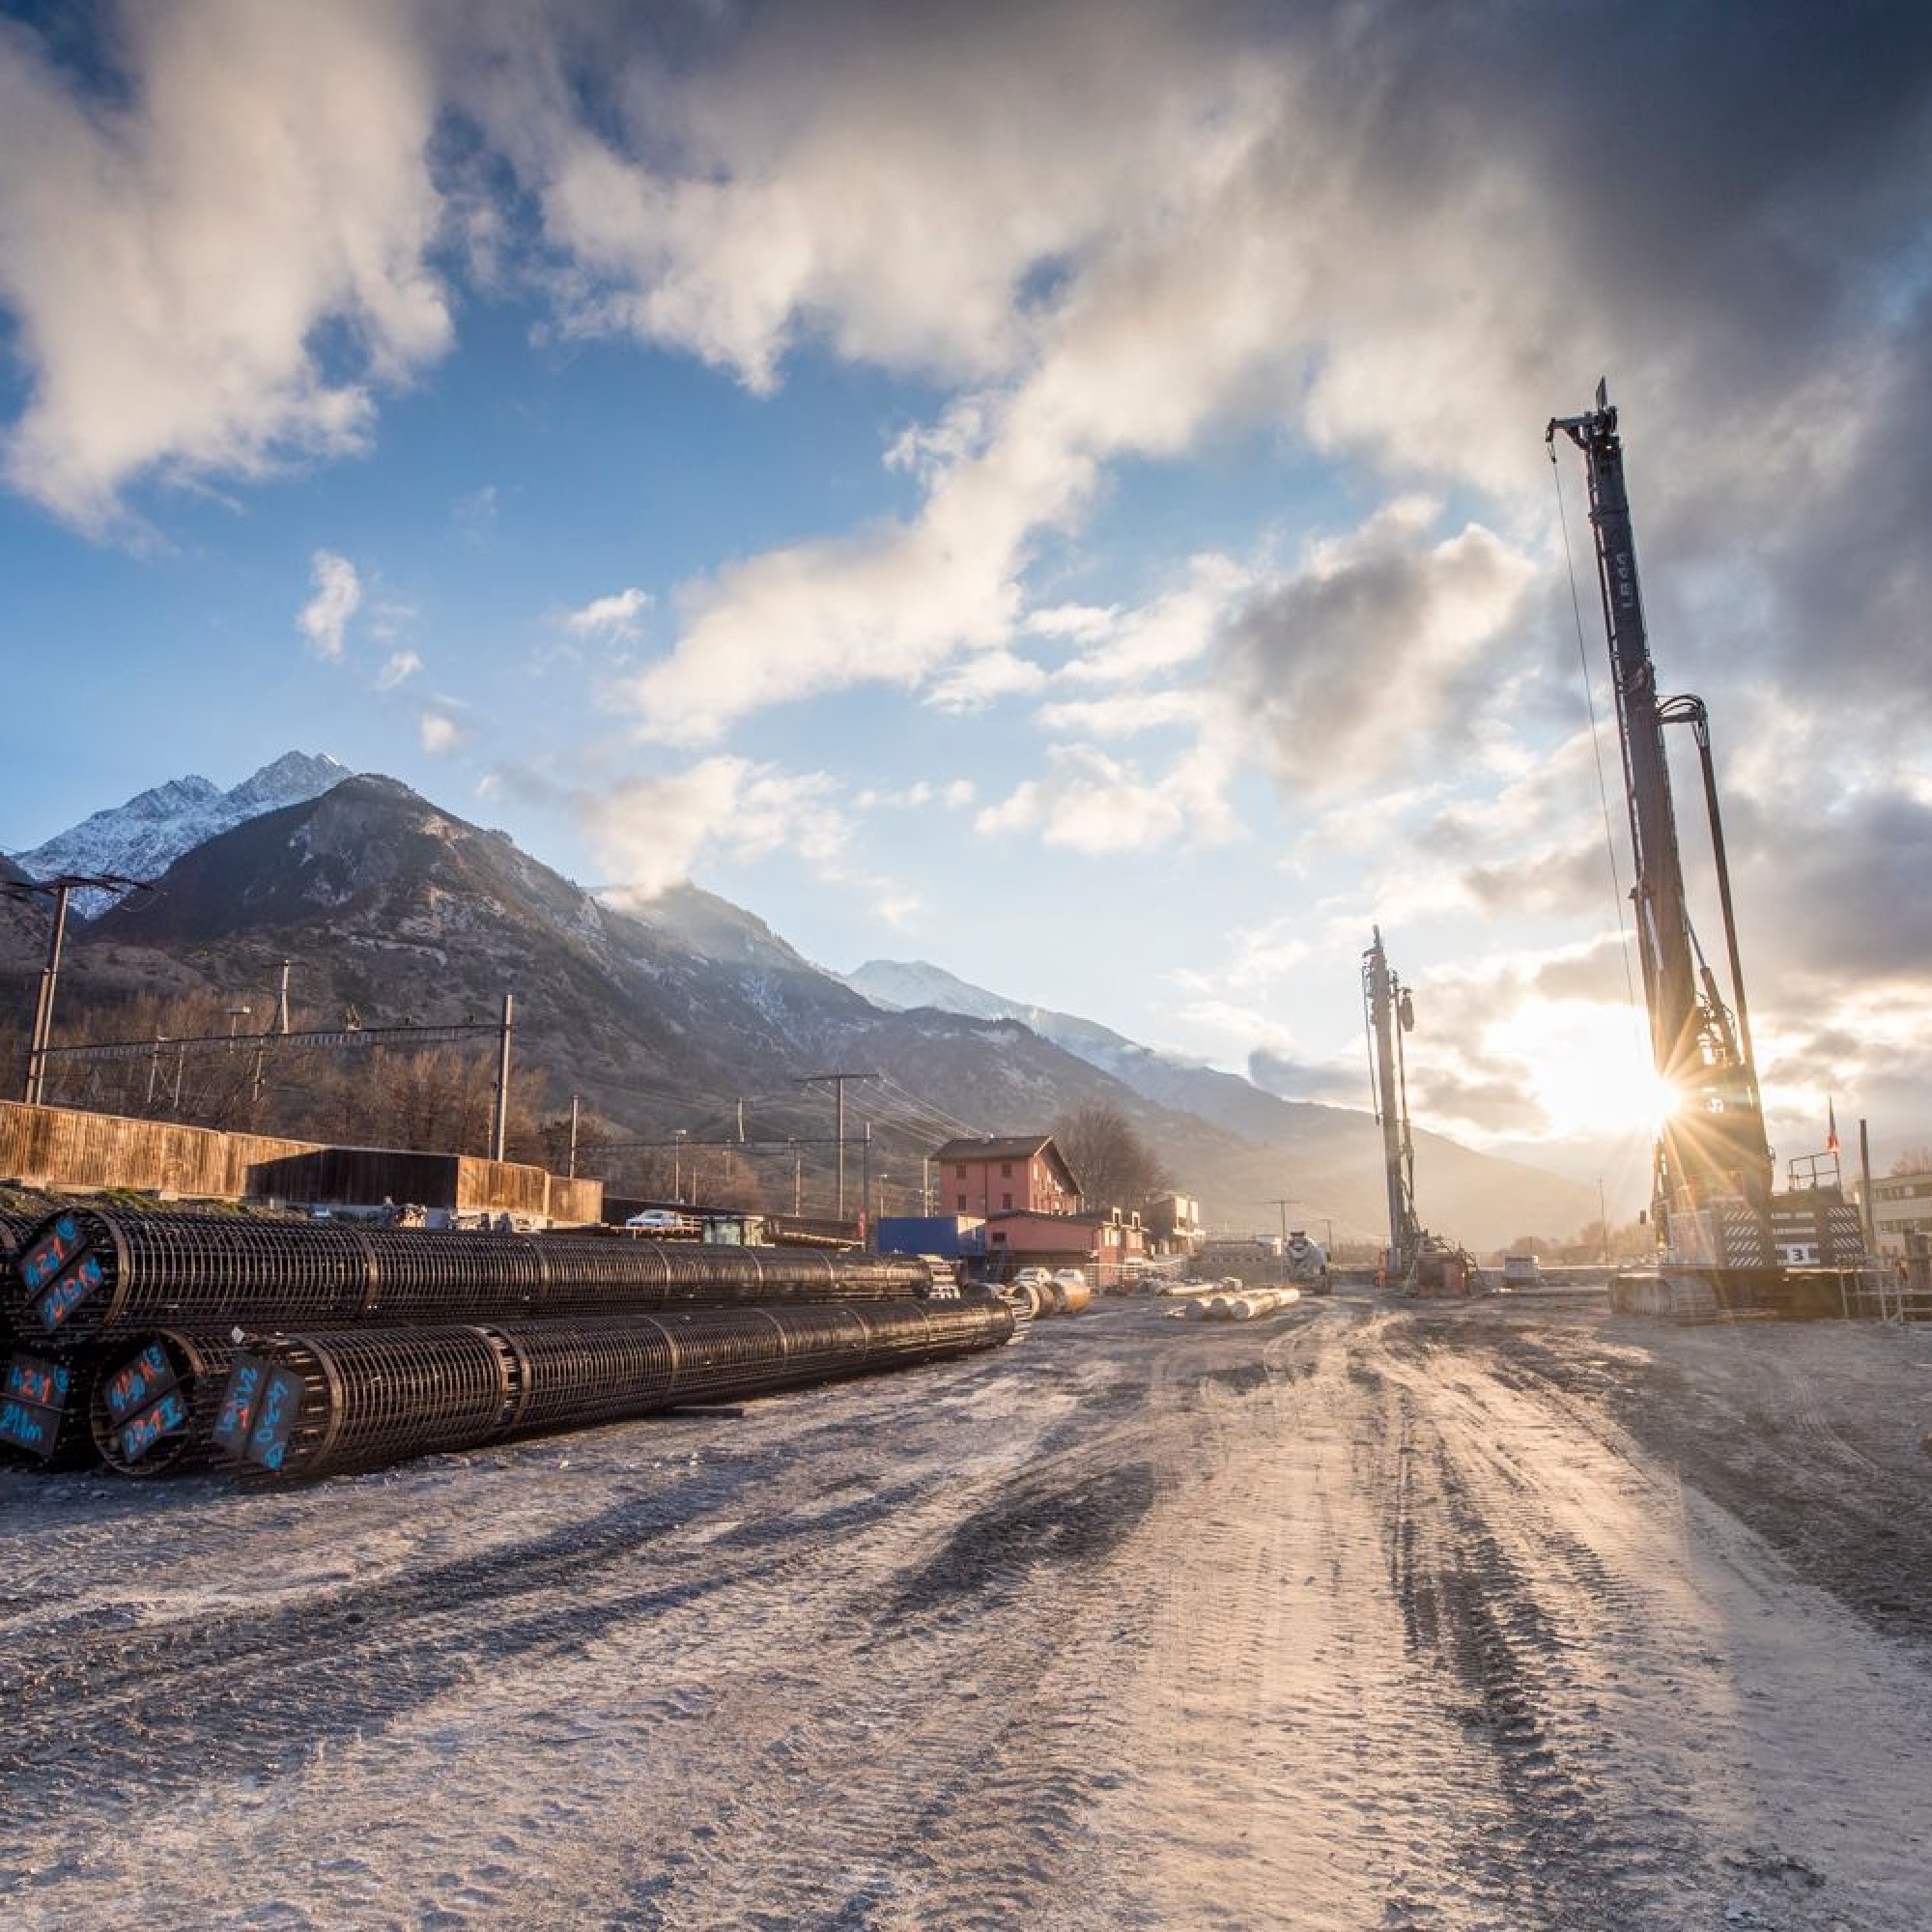
<path id="1" fill-rule="evenodd" d="M 895 1256 L 81 1208 L 12 1242 L 0 1443 L 124 1474 L 371 1468 L 1012 1335 Z"/>

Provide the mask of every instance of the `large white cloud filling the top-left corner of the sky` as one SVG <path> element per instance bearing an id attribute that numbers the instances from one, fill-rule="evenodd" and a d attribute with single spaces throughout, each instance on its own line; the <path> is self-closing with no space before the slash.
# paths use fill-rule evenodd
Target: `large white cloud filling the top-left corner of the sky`
<path id="1" fill-rule="evenodd" d="M 359 448 L 377 386 L 450 338 L 410 10 L 207 0 L 114 19 L 116 95 L 83 97 L 0 27 L 0 299 L 29 379 L 6 475 L 87 529 L 143 475 Z"/>

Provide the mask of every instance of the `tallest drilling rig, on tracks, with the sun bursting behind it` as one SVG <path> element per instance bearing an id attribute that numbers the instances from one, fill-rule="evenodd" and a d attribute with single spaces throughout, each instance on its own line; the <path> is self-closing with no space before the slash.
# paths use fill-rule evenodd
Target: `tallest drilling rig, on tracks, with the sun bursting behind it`
<path id="1" fill-rule="evenodd" d="M 1549 421 L 1544 444 L 1551 462 L 1557 431 L 1582 452 L 1588 477 L 1636 862 L 1631 887 L 1636 951 L 1644 966 L 1652 1061 L 1671 1095 L 1652 1161 L 1650 1211 L 1660 1273 L 1621 1283 L 1613 1289 L 1613 1306 L 1689 1312 L 1716 1302 L 1719 1308 L 1835 1314 L 1841 1289 L 1835 1271 L 1862 1262 L 1859 1211 L 1845 1202 L 1835 1150 L 1830 1157 L 1793 1161 L 1787 1192 L 1772 1192 L 1774 1159 L 1750 1051 L 1710 715 L 1700 697 L 1658 696 L 1636 580 L 1623 439 L 1607 384 L 1598 383 L 1596 408 L 1586 415 Z M 1729 1003 L 1690 922 L 1665 724 L 1692 728 L 1702 763 Z"/>

